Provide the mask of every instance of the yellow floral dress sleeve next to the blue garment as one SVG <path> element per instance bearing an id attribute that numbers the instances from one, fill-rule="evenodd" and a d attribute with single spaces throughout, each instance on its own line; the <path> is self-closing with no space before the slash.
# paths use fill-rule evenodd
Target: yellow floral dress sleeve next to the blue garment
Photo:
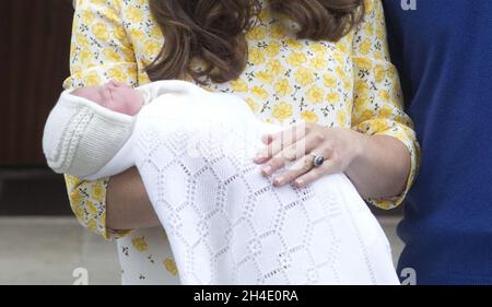
<path id="1" fill-rule="evenodd" d="M 407 146 L 411 170 L 405 191 L 391 199 L 370 199 L 385 210 L 398 206 L 407 196 L 418 172 L 420 149 L 413 123 L 403 111 L 398 72 L 390 62 L 386 25 L 380 0 L 364 1 L 364 21 L 353 34 L 354 107 L 352 128 L 370 135 L 394 137 Z"/>

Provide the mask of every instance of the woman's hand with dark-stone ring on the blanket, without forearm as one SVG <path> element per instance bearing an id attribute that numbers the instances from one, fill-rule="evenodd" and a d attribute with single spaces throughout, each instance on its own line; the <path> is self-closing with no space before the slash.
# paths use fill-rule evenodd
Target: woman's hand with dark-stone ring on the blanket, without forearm
<path id="1" fill-rule="evenodd" d="M 301 123 L 277 134 L 267 134 L 262 141 L 267 147 L 258 153 L 255 162 L 265 163 L 263 175 L 269 176 L 288 161 L 295 161 L 273 179 L 276 187 L 293 181 L 302 188 L 323 176 L 343 173 L 362 152 L 361 133 L 317 123 Z M 321 166 L 314 167 L 314 155 L 325 158 Z"/>

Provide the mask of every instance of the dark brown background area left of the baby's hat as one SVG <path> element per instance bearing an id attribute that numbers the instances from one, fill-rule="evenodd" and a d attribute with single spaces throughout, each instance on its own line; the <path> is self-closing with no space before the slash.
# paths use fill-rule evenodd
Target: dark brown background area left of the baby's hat
<path id="1" fill-rule="evenodd" d="M 0 216 L 71 214 L 63 177 L 45 164 L 42 138 L 69 75 L 72 1 L 0 3 Z"/>

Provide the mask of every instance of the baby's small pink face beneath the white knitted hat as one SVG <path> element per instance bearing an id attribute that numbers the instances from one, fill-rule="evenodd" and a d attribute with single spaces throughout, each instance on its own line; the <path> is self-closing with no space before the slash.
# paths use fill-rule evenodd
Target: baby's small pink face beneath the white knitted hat
<path id="1" fill-rule="evenodd" d="M 81 87 L 73 91 L 72 95 L 130 116 L 138 114 L 143 105 L 143 97 L 138 91 L 116 81 L 109 81 L 104 85 Z"/>

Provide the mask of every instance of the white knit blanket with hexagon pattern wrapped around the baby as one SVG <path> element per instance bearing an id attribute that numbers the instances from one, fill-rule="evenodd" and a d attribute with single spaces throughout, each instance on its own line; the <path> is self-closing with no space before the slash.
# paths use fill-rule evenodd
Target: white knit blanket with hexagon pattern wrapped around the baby
<path id="1" fill-rule="evenodd" d="M 198 87 L 197 87 L 198 88 Z M 344 175 L 274 188 L 258 120 L 232 95 L 165 94 L 91 179 L 136 165 L 183 284 L 397 284 L 388 240 Z"/>

